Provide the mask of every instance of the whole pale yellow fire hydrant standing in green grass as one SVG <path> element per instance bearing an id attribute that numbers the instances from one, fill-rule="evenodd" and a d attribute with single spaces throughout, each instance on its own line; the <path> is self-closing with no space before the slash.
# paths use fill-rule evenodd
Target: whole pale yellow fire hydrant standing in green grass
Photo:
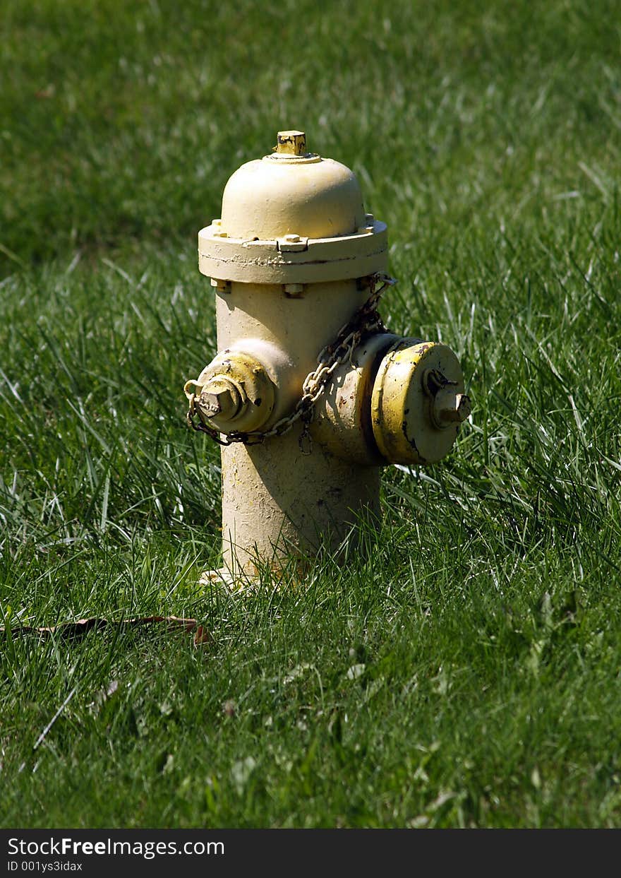
<path id="1" fill-rule="evenodd" d="M 234 579 L 378 520 L 380 467 L 441 460 L 470 403 L 451 349 L 383 327 L 386 224 L 303 132 L 279 132 L 271 155 L 235 171 L 198 253 L 219 353 L 185 385 L 188 420 L 222 446 Z"/>

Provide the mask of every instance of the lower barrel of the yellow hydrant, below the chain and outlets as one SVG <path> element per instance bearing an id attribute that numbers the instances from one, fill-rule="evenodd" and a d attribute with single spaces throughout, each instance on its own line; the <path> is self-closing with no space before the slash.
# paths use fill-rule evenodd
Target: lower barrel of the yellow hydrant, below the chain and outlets
<path id="1" fill-rule="evenodd" d="M 379 519 L 379 469 L 332 457 L 318 444 L 304 456 L 301 430 L 222 449 L 223 558 L 236 574 L 286 572 L 294 559 L 338 554 L 356 543 L 360 515 Z"/>

